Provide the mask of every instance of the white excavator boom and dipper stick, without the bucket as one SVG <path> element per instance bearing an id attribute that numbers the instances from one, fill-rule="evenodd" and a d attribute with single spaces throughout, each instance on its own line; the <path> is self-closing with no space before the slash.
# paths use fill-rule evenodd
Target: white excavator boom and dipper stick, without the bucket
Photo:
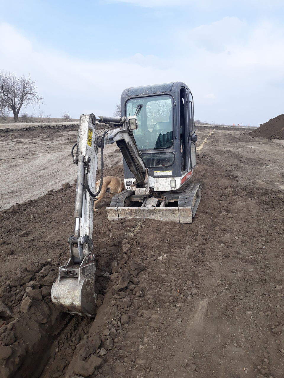
<path id="1" fill-rule="evenodd" d="M 109 130 L 104 137 L 105 144 L 117 143 L 131 172 L 140 187 L 148 190 L 147 168 L 140 157 L 130 124 L 126 117 L 98 117 L 94 114 L 81 115 L 78 130 L 78 142 L 74 163 L 78 164 L 76 200 L 75 200 L 75 232 L 70 237 L 70 254 L 74 263 L 83 261 L 84 256 L 92 250 L 92 231 L 96 171 L 98 166 L 98 148 L 101 139 L 97 136 L 96 126 L 106 126 Z M 86 178 L 89 189 L 86 190 Z M 93 196 L 94 197 L 94 196 Z M 77 246 L 78 245 L 78 246 Z"/>

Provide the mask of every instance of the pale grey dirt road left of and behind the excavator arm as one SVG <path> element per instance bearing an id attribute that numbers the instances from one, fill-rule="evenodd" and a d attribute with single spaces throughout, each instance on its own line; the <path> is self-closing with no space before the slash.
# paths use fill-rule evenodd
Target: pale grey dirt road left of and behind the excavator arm
<path id="1" fill-rule="evenodd" d="M 51 129 L 29 126 L 30 131 L 8 133 L 0 130 L 0 209 L 33 200 L 51 189 L 59 189 L 63 183 L 74 182 L 76 167 L 70 150 L 76 142 L 78 127 L 73 124 L 63 129 L 56 126 Z M 111 145 L 105 150 L 109 166 L 112 165 L 109 156 L 116 148 Z M 113 161 L 117 163 L 122 163 L 119 155 Z"/>

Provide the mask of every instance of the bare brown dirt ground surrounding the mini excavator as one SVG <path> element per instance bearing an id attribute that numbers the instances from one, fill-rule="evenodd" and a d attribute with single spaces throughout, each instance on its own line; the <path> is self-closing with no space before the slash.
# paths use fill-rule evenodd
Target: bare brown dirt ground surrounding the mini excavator
<path id="1" fill-rule="evenodd" d="M 58 186 L 47 170 L 34 196 L 41 195 L 41 180 L 47 193 L 30 199 L 23 172 L 17 184 L 23 203 L 0 214 L 1 377 L 282 378 L 284 141 L 197 130 L 192 182 L 201 184 L 201 202 L 192 224 L 108 222 L 105 197 L 94 219 L 92 319 L 61 313 L 50 300 L 74 226 L 76 167 L 71 161 L 70 176 L 62 178 L 61 164 L 76 132 L 46 132 L 0 141 L 3 151 L 17 137 L 41 156 L 38 140 L 50 138 L 50 154 L 46 147 L 43 153 L 59 154 L 58 186 L 71 184 L 51 191 Z M 106 174 L 123 177 L 113 148 Z M 6 204 L 15 191 L 7 177 Z"/>

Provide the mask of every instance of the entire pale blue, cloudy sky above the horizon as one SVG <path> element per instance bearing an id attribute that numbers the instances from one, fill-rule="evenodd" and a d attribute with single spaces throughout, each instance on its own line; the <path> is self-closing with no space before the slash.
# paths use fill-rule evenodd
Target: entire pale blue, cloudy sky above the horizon
<path id="1" fill-rule="evenodd" d="M 0 0 L 0 70 L 36 80 L 39 112 L 113 115 L 124 88 L 183 81 L 195 119 L 284 113 L 283 0 Z M 24 109 L 23 109 L 24 111 Z"/>

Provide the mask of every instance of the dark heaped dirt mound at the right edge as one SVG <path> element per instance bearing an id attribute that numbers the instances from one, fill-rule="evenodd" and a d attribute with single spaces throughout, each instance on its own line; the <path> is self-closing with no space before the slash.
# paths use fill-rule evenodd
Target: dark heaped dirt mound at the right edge
<path id="1" fill-rule="evenodd" d="M 250 133 L 251 136 L 262 136 L 266 139 L 284 139 L 284 114 L 259 125 Z"/>

